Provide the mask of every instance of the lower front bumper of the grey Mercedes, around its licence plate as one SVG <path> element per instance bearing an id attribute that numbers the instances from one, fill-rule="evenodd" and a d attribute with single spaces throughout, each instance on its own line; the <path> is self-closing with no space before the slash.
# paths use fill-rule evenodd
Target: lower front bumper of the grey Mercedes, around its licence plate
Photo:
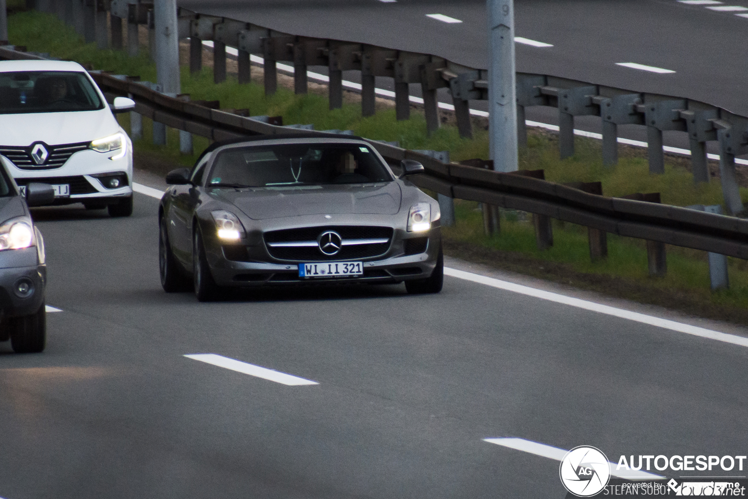
<path id="1" fill-rule="evenodd" d="M 206 241 L 206 257 L 213 278 L 219 286 L 396 284 L 402 281 L 428 278 L 434 272 L 441 248 L 441 230 L 439 227 L 434 227 L 425 233 L 408 234 L 408 237 L 416 236 L 429 238 L 425 251 L 417 254 L 404 254 L 401 249 L 403 239 L 396 237 L 390 245 L 390 250 L 381 257 L 360 259 L 364 265 L 364 275 L 362 277 L 299 278 L 298 264 L 304 262 L 274 263 L 271 261 L 229 260 L 226 257 L 224 247 L 215 239 Z M 259 251 L 259 249 L 250 250 L 249 254 L 263 252 L 265 252 L 264 248 L 263 251 Z"/>

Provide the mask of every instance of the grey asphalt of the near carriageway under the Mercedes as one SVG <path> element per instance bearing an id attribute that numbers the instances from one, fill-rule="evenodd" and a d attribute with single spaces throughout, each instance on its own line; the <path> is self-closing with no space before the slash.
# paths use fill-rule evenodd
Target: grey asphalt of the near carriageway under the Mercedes
<path id="1" fill-rule="evenodd" d="M 746 346 L 453 277 L 199 303 L 162 291 L 135 196 L 34 209 L 62 311 L 42 354 L 0 343 L 2 498 L 563 498 L 557 461 L 482 439 L 746 453 Z M 318 384 L 184 356 L 206 353 Z"/>

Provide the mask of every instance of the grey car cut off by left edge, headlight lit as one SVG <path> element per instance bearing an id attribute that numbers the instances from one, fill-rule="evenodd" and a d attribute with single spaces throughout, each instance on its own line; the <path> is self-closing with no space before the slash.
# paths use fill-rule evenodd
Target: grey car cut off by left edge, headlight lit
<path id="1" fill-rule="evenodd" d="M 0 159 L 0 341 L 17 353 L 41 352 L 46 343 L 46 254 L 28 206 L 55 200 L 55 190 L 29 183 L 25 195 Z"/>

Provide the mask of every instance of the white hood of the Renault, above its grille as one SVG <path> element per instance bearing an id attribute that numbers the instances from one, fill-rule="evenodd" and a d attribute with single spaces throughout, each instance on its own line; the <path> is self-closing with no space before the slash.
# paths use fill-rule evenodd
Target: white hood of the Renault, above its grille
<path id="1" fill-rule="evenodd" d="M 3 114 L 0 145 L 28 146 L 36 141 L 48 145 L 93 141 L 116 133 L 120 126 L 108 109 L 63 113 Z"/>

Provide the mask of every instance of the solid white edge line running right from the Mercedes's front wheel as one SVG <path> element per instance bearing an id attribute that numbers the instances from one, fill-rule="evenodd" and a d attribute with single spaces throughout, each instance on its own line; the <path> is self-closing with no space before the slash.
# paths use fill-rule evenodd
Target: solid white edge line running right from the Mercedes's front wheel
<path id="1" fill-rule="evenodd" d="M 444 275 L 450 275 L 453 278 L 464 279 L 465 281 L 472 281 L 478 284 L 485 284 L 486 286 L 497 287 L 501 290 L 512 291 L 512 293 L 533 296 L 535 298 L 555 301 L 556 303 L 569 305 L 571 307 L 583 308 L 584 310 L 591 310 L 592 312 L 604 313 L 609 316 L 633 320 L 634 322 L 642 322 L 643 324 L 654 325 L 658 328 L 669 329 L 679 333 L 693 334 L 693 336 L 699 336 L 709 340 L 723 341 L 724 343 L 732 343 L 733 345 L 738 346 L 748 346 L 747 337 L 720 333 L 719 331 L 712 331 L 711 329 L 699 328 L 695 325 L 682 324 L 681 322 L 648 316 L 643 313 L 632 312 L 631 310 L 609 307 L 608 305 L 595 303 L 594 301 L 571 298 L 571 296 L 551 293 L 550 291 L 536 290 L 536 288 L 533 287 L 522 286 L 521 284 L 510 283 L 508 281 L 500 281 L 499 279 L 489 278 L 485 275 L 473 274 L 472 272 L 450 269 L 448 267 L 444 267 Z"/>

